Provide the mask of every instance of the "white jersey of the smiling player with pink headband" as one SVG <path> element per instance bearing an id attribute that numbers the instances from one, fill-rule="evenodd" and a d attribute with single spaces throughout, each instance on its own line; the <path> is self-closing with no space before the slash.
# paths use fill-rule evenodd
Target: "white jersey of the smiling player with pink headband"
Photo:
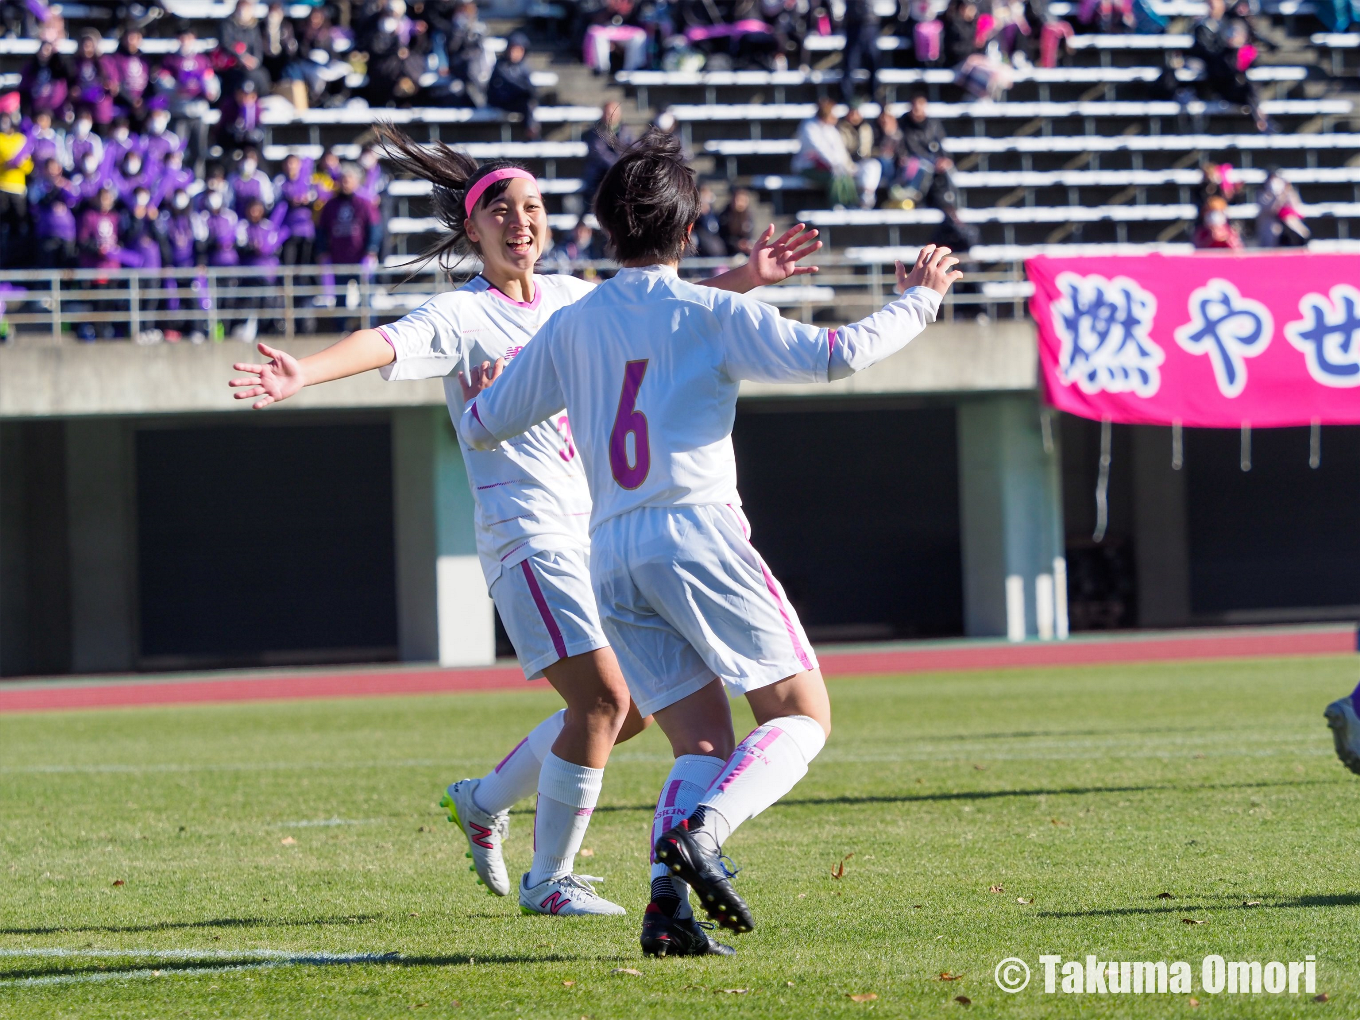
<path id="1" fill-rule="evenodd" d="M 534 276 L 533 301 L 517 302 L 483 277 L 439 294 L 378 332 L 396 351 L 382 369 L 385 379 L 445 377 L 449 415 L 462 415 L 458 373 L 498 358 L 514 359 L 552 313 L 579 301 L 593 284 L 571 276 Z M 560 412 L 545 413 L 522 435 L 492 450 L 462 442 L 462 461 L 476 499 L 477 552 L 490 588 L 502 571 L 539 551 L 570 549 L 589 543 L 590 491 L 577 457 L 571 424 Z"/>

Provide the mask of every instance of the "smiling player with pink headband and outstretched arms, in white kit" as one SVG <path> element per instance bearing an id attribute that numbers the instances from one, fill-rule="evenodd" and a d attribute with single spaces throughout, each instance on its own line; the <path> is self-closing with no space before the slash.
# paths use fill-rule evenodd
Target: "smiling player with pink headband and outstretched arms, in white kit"
<path id="1" fill-rule="evenodd" d="M 460 369 L 511 359 L 558 309 L 594 287 L 570 276 L 540 276 L 548 245 L 543 196 L 533 175 L 514 163 L 477 166 L 445 146 L 422 147 L 385 131 L 388 158 L 401 171 L 434 184 L 446 227 L 427 258 L 476 256 L 481 272 L 388 326 L 360 329 L 302 360 L 260 344 L 268 364 L 237 364 L 237 398 L 264 408 L 307 385 L 381 369 L 388 379 L 449 377 Z M 796 262 L 820 248 L 815 231 L 790 230 L 715 287 L 749 290 L 815 272 Z M 450 415 L 462 411 L 458 385 L 446 378 Z M 560 412 L 559 404 L 556 411 Z M 480 779 L 453 783 L 450 821 L 461 826 L 483 883 L 510 891 L 502 845 L 509 809 L 537 790 L 534 854 L 520 883 L 520 904 L 540 914 L 622 914 L 573 874 L 573 862 L 600 794 L 609 749 L 646 725 L 600 628 L 589 581 L 586 517 L 590 496 L 564 413 L 487 450 L 462 447 L 476 498 L 477 549 L 487 586 L 525 676 L 547 676 L 566 711 L 544 719 Z M 715 944 L 714 944 L 715 945 Z"/>

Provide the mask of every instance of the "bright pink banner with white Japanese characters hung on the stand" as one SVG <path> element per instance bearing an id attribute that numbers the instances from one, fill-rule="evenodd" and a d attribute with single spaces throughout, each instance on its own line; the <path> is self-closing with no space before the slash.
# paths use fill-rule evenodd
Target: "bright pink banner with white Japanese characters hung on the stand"
<path id="1" fill-rule="evenodd" d="M 1360 424 L 1360 256 L 1025 262 L 1047 401 L 1127 424 Z"/>

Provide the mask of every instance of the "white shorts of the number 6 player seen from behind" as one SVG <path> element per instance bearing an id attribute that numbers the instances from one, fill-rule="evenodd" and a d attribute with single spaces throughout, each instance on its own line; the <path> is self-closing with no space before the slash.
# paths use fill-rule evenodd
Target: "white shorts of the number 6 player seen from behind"
<path id="1" fill-rule="evenodd" d="M 643 715 L 715 676 L 747 694 L 816 668 L 798 615 L 748 534 L 729 506 L 641 507 L 592 534 L 604 632 Z"/>

